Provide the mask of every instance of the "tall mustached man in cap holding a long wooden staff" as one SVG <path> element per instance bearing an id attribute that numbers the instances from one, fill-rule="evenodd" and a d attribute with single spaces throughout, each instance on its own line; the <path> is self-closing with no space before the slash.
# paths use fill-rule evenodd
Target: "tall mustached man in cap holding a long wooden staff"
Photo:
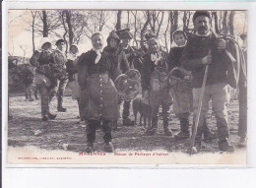
<path id="1" fill-rule="evenodd" d="M 197 152 L 201 150 L 203 134 L 203 122 L 209 109 L 209 101 L 217 118 L 219 149 L 224 152 L 232 152 L 233 146 L 229 143 L 229 128 L 227 123 L 226 104 L 229 100 L 227 86 L 227 67 L 231 63 L 226 55 L 226 41 L 217 38 L 210 29 L 211 12 L 197 11 L 193 16 L 196 34 L 188 39 L 182 54 L 183 67 L 192 72 L 193 87 L 193 123 L 199 108 L 199 98 L 202 93 L 203 79 L 206 66 L 209 65 L 208 77 L 204 97 L 202 100 L 201 115 L 196 134 L 195 147 Z"/>

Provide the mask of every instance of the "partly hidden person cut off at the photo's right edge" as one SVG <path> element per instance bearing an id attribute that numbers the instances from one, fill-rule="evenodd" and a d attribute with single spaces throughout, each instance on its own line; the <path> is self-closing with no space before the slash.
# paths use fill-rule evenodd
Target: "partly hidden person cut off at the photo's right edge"
<path id="1" fill-rule="evenodd" d="M 247 33 L 242 33 L 240 35 L 243 40 L 242 51 L 244 55 L 244 66 L 241 67 L 239 82 L 238 82 L 238 102 L 239 102 L 239 121 L 238 121 L 238 136 L 240 137 L 238 147 L 244 148 L 246 146 L 246 130 L 247 130 L 247 79 L 246 79 L 246 69 L 247 69 Z"/>

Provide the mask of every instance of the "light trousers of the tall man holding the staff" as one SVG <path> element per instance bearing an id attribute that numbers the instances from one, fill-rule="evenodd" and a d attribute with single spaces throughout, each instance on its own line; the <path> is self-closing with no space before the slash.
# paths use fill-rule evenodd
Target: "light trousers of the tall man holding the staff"
<path id="1" fill-rule="evenodd" d="M 226 105 L 229 102 L 229 93 L 225 83 L 209 85 L 205 88 L 205 94 L 202 100 L 201 115 L 197 129 L 196 140 L 201 140 L 204 131 L 204 119 L 209 109 L 209 101 L 212 99 L 212 107 L 217 118 L 219 140 L 223 141 L 229 137 L 228 117 Z M 199 107 L 199 99 L 202 89 L 193 89 L 193 123 L 195 124 L 196 115 Z M 194 127 L 194 126 L 193 126 Z"/>

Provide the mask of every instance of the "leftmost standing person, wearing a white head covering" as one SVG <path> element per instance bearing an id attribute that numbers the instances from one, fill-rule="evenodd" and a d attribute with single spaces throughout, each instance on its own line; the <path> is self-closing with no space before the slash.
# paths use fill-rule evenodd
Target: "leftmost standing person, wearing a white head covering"
<path id="1" fill-rule="evenodd" d="M 34 84 L 38 87 L 41 95 L 42 121 L 55 119 L 56 115 L 49 112 L 49 103 L 51 100 L 50 95 L 57 86 L 57 80 L 52 76 L 54 57 L 50 40 L 47 37 L 41 39 L 40 49 L 34 51 L 30 62 L 35 67 Z"/>

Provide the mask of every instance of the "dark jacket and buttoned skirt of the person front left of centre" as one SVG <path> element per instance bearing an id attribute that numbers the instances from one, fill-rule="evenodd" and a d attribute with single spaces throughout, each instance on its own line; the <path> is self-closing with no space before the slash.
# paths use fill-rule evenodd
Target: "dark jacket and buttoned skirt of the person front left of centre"
<path id="1" fill-rule="evenodd" d="M 117 106 L 117 91 L 110 78 L 110 73 L 116 74 L 113 61 L 101 54 L 95 63 L 96 51 L 83 53 L 78 62 L 78 82 L 82 90 L 81 100 L 86 103 L 85 118 L 87 120 L 116 121 L 119 117 Z M 83 115 L 84 116 L 84 115 Z"/>

